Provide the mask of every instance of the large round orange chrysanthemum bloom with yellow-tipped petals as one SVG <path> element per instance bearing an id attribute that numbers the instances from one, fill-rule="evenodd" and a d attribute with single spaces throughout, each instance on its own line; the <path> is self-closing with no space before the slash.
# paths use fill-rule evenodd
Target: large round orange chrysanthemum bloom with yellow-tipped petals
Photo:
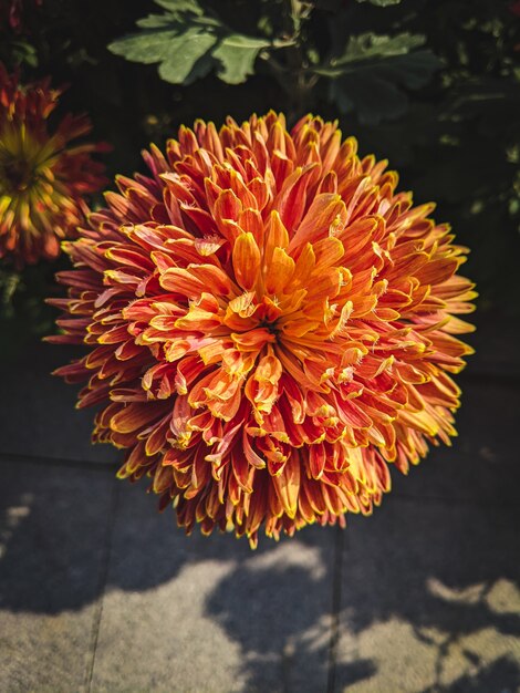
<path id="1" fill-rule="evenodd" d="M 144 153 L 150 177 L 66 245 L 58 371 L 102 404 L 94 441 L 127 449 L 189 531 L 251 545 L 371 513 L 430 443 L 449 443 L 471 349 L 466 249 L 360 159 L 333 123 L 198 121 Z"/>

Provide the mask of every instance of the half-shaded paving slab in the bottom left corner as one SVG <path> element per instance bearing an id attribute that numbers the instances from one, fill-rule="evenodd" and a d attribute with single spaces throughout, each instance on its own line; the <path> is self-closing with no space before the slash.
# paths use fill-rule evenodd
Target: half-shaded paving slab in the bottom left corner
<path id="1" fill-rule="evenodd" d="M 83 691 L 92 666 L 113 482 L 0 463 L 0 691 Z"/>

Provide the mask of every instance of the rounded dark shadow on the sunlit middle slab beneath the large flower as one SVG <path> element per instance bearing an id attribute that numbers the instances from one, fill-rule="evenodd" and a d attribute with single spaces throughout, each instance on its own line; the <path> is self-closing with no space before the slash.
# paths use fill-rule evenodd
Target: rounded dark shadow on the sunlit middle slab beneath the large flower
<path id="1" fill-rule="evenodd" d="M 290 549 L 285 544 L 278 552 Z M 208 597 L 207 614 L 239 643 L 248 692 L 311 691 L 311 681 L 321 682 L 315 690 L 329 690 L 330 571 L 315 547 L 294 560 L 289 556 L 283 566 L 271 558 L 238 566 Z M 295 653 L 298 666 L 291 661 Z M 370 660 L 339 670 L 336 676 L 350 682 L 375 672 Z"/>

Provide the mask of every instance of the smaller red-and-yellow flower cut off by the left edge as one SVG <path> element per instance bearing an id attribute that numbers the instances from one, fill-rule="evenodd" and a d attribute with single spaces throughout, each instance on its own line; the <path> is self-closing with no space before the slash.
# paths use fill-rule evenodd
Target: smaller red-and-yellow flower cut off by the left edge
<path id="1" fill-rule="evenodd" d="M 61 93 L 49 80 L 22 87 L 0 64 L 0 257 L 19 267 L 54 259 L 84 223 L 84 196 L 106 184 L 91 158 L 106 145 L 69 146 L 91 131 L 89 118 L 67 115 L 49 132 Z"/>

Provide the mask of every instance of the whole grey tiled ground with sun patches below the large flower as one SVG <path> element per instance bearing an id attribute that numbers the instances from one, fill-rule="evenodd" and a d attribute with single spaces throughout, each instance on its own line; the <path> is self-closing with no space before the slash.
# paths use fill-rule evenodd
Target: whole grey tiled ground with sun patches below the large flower
<path id="1" fill-rule="evenodd" d="M 1 365 L 0 691 L 520 691 L 520 370 L 493 349 L 454 447 L 372 518 L 256 552 L 114 480 L 46 375 L 65 350 Z"/>

